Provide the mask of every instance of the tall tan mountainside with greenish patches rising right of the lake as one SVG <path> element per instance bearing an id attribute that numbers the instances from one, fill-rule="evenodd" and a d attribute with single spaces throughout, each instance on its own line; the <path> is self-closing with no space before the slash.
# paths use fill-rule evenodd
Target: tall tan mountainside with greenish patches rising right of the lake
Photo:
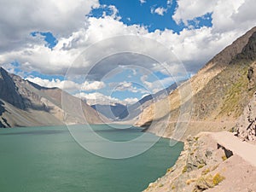
<path id="1" fill-rule="evenodd" d="M 179 118 L 187 116 L 184 119 L 190 121 L 183 138 L 200 131 L 229 130 L 236 125 L 236 119 L 256 90 L 255 55 L 256 27 L 253 27 L 168 97 L 145 108 L 137 125 L 146 126 L 147 131 L 157 135 L 173 137 L 175 129 L 186 124 Z M 167 122 L 165 131 L 163 122 Z"/>

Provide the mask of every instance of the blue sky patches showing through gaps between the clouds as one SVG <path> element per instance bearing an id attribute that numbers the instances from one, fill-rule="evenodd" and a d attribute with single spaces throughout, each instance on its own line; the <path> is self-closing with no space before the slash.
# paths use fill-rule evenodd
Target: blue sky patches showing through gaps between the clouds
<path id="1" fill-rule="evenodd" d="M 145 26 L 148 29 L 148 32 L 154 32 L 155 30 L 165 31 L 166 29 L 170 29 L 173 32 L 181 32 L 183 28 L 189 27 L 183 25 L 183 23 L 177 24 L 175 20 L 172 20 L 172 15 L 177 9 L 177 2 L 172 1 L 168 2 L 166 0 L 161 1 L 147 1 L 145 3 L 141 3 L 138 0 L 126 1 L 126 0 L 101 0 L 101 6 L 96 9 L 92 9 L 90 13 L 86 16 L 94 17 L 94 18 L 102 18 L 102 15 L 106 13 L 106 15 L 113 15 L 113 9 L 109 7 L 114 6 L 117 10 L 117 16 L 120 18 L 119 20 L 127 26 L 139 25 Z M 163 13 L 155 12 L 155 9 L 163 9 Z M 207 18 L 207 19 L 206 19 Z M 211 14 L 204 15 L 200 18 L 196 18 L 195 20 L 189 21 L 190 25 L 194 27 L 201 26 L 211 26 Z M 195 24 L 196 23 L 196 24 Z M 32 37 L 41 37 L 45 41 L 45 46 L 49 49 L 53 49 L 57 44 L 58 40 L 54 37 L 51 32 L 31 32 Z M 132 70 L 124 70 L 121 73 L 107 79 L 104 83 L 106 86 L 101 90 L 90 90 L 85 91 L 86 93 L 94 93 L 95 91 L 102 93 L 102 95 L 113 96 L 120 100 L 124 100 L 125 98 L 137 98 L 140 99 L 143 96 L 156 92 L 157 90 L 164 89 L 171 84 L 175 83 L 174 79 L 169 81 L 167 84 L 162 84 L 162 87 L 148 89 L 148 87 L 143 84 L 140 77 L 142 74 L 137 73 L 137 75 L 133 74 Z M 39 77 L 41 79 L 61 79 L 63 80 L 63 76 L 56 75 L 47 75 L 37 72 L 25 73 L 25 77 Z M 157 79 L 155 79 L 155 77 Z M 160 73 L 159 71 L 154 71 L 152 75 L 148 76 L 148 82 L 154 82 L 162 79 L 170 79 L 169 75 L 164 73 Z M 183 77 L 183 79 L 188 79 L 188 77 Z M 137 90 L 113 90 L 111 86 L 108 84 L 113 83 L 123 83 L 123 82 L 131 82 L 131 86 L 133 89 Z M 77 93 L 78 91 L 74 91 L 73 93 Z"/>

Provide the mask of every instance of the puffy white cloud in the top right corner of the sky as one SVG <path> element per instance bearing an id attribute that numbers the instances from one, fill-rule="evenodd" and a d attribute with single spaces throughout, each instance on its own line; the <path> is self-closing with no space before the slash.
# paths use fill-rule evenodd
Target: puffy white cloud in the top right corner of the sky
<path id="1" fill-rule="evenodd" d="M 172 18 L 177 23 L 188 25 L 189 20 L 211 13 L 215 34 L 234 30 L 245 32 L 256 23 L 253 16 L 255 6 L 253 0 L 177 0 L 177 9 Z"/>

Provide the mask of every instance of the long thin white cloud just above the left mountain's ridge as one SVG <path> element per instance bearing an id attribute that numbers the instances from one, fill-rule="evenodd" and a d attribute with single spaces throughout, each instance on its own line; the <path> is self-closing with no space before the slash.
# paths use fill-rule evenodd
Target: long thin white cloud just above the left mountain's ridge
<path id="1" fill-rule="evenodd" d="M 39 84 L 44 87 L 53 88 L 57 87 L 62 90 L 100 90 L 105 87 L 103 82 L 94 81 L 94 82 L 84 82 L 84 84 L 77 84 L 70 80 L 60 80 L 60 79 L 41 79 L 41 78 L 26 78 L 26 80 L 31 81 L 32 83 Z"/>

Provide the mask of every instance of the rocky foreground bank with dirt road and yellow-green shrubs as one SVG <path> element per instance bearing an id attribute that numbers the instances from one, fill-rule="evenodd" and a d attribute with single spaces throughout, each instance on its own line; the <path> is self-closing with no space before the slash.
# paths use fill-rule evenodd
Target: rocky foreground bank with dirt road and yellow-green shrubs
<path id="1" fill-rule="evenodd" d="M 255 149 L 230 132 L 202 132 L 188 137 L 175 166 L 144 191 L 255 191 Z"/>

